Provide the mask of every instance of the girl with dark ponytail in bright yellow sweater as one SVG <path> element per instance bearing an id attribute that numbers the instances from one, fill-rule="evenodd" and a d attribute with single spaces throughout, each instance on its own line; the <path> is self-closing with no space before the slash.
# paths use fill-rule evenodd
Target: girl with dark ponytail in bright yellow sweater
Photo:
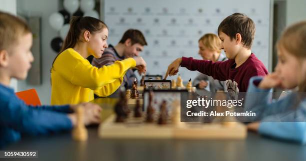
<path id="1" fill-rule="evenodd" d="M 77 104 L 93 100 L 93 93 L 105 97 L 120 86 L 125 72 L 136 67 L 146 71 L 141 57 L 115 61 L 96 68 L 86 58 L 101 57 L 107 47 L 108 28 L 93 17 L 73 16 L 60 53 L 51 67 L 51 104 Z"/>

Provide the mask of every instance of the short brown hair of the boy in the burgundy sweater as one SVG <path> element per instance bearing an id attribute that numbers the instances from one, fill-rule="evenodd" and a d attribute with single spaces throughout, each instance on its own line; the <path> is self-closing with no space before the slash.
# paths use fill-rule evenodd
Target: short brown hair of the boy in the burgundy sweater
<path id="1" fill-rule="evenodd" d="M 235 38 L 236 33 L 240 33 L 241 42 L 243 45 L 250 49 L 252 41 L 255 36 L 255 24 L 252 19 L 243 13 L 233 13 L 227 16 L 218 27 L 218 34 L 225 33 L 232 40 Z"/>

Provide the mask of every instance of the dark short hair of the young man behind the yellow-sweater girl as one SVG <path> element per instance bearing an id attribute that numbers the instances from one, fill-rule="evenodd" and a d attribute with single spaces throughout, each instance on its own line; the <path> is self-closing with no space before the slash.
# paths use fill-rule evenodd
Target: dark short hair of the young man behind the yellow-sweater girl
<path id="1" fill-rule="evenodd" d="M 128 38 L 131 40 L 132 45 L 135 43 L 139 43 L 142 46 L 147 45 L 143 34 L 137 29 L 126 30 L 119 43 L 124 43 Z"/>

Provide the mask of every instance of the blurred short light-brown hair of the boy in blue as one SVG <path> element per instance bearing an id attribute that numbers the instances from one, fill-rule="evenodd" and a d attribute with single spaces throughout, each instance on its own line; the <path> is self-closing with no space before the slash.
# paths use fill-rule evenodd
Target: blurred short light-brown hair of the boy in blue
<path id="1" fill-rule="evenodd" d="M 18 41 L 18 37 L 31 30 L 22 19 L 0 11 L 0 50 L 9 50 Z"/>

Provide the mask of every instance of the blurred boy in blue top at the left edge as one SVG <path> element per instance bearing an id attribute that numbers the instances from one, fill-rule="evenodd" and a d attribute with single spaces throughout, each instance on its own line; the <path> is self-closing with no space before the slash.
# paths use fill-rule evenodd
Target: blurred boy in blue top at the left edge
<path id="1" fill-rule="evenodd" d="M 20 140 L 21 135 L 44 135 L 71 130 L 78 105 L 28 106 L 9 88 L 11 78 L 25 79 L 33 56 L 32 33 L 27 24 L 0 12 L 0 147 Z M 99 123 L 101 108 L 83 103 L 85 125 Z"/>

